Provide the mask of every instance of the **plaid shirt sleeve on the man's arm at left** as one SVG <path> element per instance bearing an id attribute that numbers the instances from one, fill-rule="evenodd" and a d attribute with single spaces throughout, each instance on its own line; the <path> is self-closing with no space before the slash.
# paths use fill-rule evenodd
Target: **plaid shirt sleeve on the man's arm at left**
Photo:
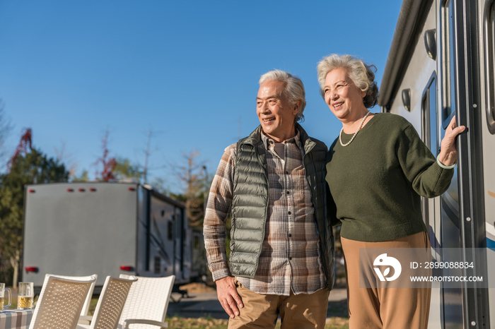
<path id="1" fill-rule="evenodd" d="M 211 183 L 204 215 L 204 246 L 214 281 L 231 275 L 228 269 L 225 239 L 226 222 L 233 198 L 235 146 L 233 144 L 223 152 L 219 167 L 216 169 L 215 177 Z"/>

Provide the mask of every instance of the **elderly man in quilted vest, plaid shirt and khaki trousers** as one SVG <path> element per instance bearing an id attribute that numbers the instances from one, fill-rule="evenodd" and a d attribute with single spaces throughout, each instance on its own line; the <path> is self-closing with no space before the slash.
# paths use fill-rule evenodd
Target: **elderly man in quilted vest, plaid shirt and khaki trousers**
<path id="1" fill-rule="evenodd" d="M 228 328 L 324 328 L 334 282 L 327 220 L 327 146 L 310 138 L 302 81 L 284 71 L 260 78 L 260 126 L 228 146 L 204 219 L 208 263 Z M 225 238 L 229 210 L 231 255 Z"/>

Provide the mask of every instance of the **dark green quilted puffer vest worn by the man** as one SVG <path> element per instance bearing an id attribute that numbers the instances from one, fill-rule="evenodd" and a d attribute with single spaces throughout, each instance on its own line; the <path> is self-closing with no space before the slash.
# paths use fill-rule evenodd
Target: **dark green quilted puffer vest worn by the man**
<path id="1" fill-rule="evenodd" d="M 334 236 L 325 204 L 327 146 L 320 140 L 310 138 L 299 124 L 296 124 L 296 129 L 305 150 L 303 165 L 315 206 L 327 288 L 332 289 L 335 276 Z M 262 250 L 269 198 L 267 157 L 261 126 L 237 143 L 233 183 L 229 268 L 235 276 L 254 278 Z"/>

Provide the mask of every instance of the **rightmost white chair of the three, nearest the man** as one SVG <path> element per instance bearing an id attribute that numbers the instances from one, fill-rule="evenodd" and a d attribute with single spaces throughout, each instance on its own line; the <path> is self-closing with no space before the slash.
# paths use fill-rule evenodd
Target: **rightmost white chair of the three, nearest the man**
<path id="1" fill-rule="evenodd" d="M 129 275 L 121 274 L 127 278 Z M 167 328 L 165 316 L 175 275 L 169 277 L 137 277 L 132 284 L 117 329 Z"/>

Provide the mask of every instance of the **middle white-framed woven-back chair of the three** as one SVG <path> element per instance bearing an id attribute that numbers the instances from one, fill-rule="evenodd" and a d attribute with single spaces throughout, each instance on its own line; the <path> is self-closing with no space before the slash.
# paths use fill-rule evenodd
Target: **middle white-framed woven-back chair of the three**
<path id="1" fill-rule="evenodd" d="M 94 315 L 81 316 L 81 320 L 91 321 L 91 325 L 79 323 L 78 329 L 115 329 L 120 319 L 120 313 L 124 308 L 127 294 L 131 289 L 132 282 L 136 282 L 137 277 L 122 279 L 117 277 L 107 277 L 103 289 L 96 304 Z"/>

